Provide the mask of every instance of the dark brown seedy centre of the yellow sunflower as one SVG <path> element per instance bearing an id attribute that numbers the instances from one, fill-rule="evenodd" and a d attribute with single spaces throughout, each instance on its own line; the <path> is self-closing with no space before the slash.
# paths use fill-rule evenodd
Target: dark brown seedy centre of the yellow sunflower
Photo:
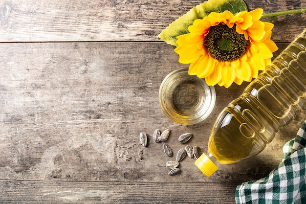
<path id="1" fill-rule="evenodd" d="M 209 54 L 218 61 L 233 61 L 239 59 L 249 45 L 243 34 L 236 32 L 236 25 L 216 25 L 209 29 L 204 39 L 204 46 Z"/>

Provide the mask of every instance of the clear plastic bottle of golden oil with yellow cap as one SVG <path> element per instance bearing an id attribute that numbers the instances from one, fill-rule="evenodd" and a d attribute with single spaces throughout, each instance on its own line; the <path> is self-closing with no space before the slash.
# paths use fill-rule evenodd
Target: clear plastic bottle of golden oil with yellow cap
<path id="1" fill-rule="evenodd" d="M 196 166 L 210 177 L 259 154 L 305 106 L 306 29 L 219 114 Z"/>

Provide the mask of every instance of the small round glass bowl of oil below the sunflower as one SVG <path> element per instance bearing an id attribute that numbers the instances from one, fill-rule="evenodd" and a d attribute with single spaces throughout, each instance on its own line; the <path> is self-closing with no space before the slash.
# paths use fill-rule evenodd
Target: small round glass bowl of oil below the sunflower
<path id="1" fill-rule="evenodd" d="M 213 111 L 216 91 L 204 79 L 188 74 L 188 68 L 169 73 L 159 88 L 159 104 L 172 121 L 194 125 Z"/>

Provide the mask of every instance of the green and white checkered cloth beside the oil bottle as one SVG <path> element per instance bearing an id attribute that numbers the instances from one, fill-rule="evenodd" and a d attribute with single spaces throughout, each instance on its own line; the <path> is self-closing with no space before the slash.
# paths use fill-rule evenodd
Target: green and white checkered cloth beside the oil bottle
<path id="1" fill-rule="evenodd" d="M 236 204 L 306 204 L 306 120 L 283 151 L 283 161 L 266 178 L 237 186 Z"/>

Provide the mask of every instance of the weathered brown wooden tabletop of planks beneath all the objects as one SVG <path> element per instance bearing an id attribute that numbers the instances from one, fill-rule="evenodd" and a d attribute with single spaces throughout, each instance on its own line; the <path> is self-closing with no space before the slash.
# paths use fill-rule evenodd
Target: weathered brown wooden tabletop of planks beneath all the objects
<path id="1" fill-rule="evenodd" d="M 185 68 L 157 38 L 200 0 L 0 0 L 0 203 L 233 204 L 243 181 L 260 179 L 282 159 L 305 111 L 258 156 L 221 165 L 206 178 L 194 159 L 168 176 L 155 129 L 207 150 L 219 112 L 248 85 L 215 87 L 203 122 L 183 126 L 158 103 L 163 78 Z M 264 13 L 306 7 L 305 0 L 246 0 Z M 279 54 L 306 27 L 306 14 L 278 17 Z M 139 133 L 149 136 L 142 147 Z M 171 158 L 173 160 L 174 158 Z"/>

